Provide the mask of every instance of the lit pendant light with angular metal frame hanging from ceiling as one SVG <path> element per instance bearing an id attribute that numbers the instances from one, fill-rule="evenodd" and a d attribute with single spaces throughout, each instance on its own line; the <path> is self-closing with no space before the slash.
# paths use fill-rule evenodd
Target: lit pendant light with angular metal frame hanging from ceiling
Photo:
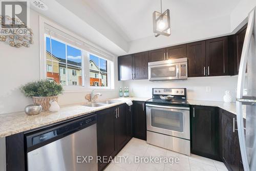
<path id="1" fill-rule="evenodd" d="M 161 13 L 157 11 L 153 12 L 153 32 L 156 37 L 160 34 L 164 36 L 170 35 L 170 11 L 167 9 L 162 13 L 162 0 L 160 0 L 160 3 Z"/>

